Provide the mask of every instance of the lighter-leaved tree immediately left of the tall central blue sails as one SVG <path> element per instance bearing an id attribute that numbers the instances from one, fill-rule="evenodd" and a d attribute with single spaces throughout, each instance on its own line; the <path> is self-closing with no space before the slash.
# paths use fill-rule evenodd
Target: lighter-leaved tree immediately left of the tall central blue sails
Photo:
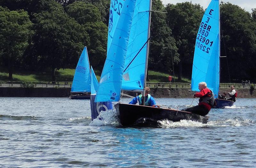
<path id="1" fill-rule="evenodd" d="M 66 7 L 66 11 L 89 34 L 88 54 L 91 65 L 102 68 L 107 53 L 108 27 L 101 21 L 99 9 L 85 2 L 74 2 Z"/>

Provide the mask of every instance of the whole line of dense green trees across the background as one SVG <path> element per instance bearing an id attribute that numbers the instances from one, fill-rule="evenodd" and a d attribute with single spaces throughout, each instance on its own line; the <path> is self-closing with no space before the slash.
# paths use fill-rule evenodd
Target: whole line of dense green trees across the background
<path id="1" fill-rule="evenodd" d="M 74 68 L 84 46 L 101 70 L 107 53 L 110 0 L 0 0 L 0 65 L 44 72 Z M 191 78 L 199 4 L 153 0 L 149 70 Z M 220 4 L 221 82 L 256 80 L 256 8 Z M 175 74 L 176 75 L 176 74 Z M 230 78 L 229 78 L 230 76 Z"/>

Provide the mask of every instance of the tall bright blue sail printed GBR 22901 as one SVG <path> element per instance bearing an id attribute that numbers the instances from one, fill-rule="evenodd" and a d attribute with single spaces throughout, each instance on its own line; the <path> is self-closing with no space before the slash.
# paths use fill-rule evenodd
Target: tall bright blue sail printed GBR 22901
<path id="1" fill-rule="evenodd" d="M 191 90 L 199 91 L 199 82 L 206 82 L 207 87 L 215 94 L 215 98 L 218 97 L 220 86 L 219 0 L 212 0 L 209 4 L 196 36 Z"/>

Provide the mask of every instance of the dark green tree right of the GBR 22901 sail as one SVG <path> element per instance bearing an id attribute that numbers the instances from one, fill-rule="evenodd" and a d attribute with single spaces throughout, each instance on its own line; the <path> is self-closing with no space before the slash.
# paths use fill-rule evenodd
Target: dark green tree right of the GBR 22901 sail
<path id="1" fill-rule="evenodd" d="M 226 55 L 226 50 L 231 80 L 255 79 L 256 26 L 251 13 L 237 5 L 221 3 L 220 25 L 223 35 L 221 56 Z M 229 81 L 226 65 L 226 59 L 221 59 L 223 81 Z"/>

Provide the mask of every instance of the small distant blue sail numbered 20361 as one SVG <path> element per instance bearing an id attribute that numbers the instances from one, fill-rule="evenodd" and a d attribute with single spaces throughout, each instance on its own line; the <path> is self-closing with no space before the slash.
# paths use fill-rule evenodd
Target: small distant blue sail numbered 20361
<path id="1" fill-rule="evenodd" d="M 91 72 L 87 48 L 84 50 L 76 65 L 71 92 L 90 92 L 91 91 Z"/>

